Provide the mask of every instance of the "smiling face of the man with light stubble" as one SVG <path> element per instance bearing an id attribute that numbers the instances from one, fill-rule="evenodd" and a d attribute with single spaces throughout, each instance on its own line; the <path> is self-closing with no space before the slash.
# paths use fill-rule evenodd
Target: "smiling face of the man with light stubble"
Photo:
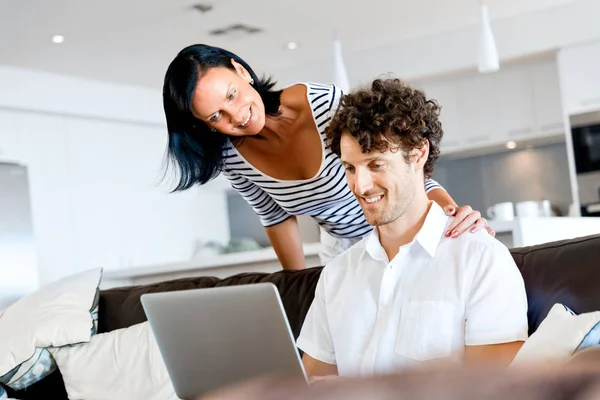
<path id="1" fill-rule="evenodd" d="M 363 153 L 358 141 L 346 134 L 340 153 L 348 186 L 370 225 L 382 226 L 400 218 L 409 209 L 417 185 L 424 185 L 418 155 L 417 161 L 407 163 L 401 149 Z"/>

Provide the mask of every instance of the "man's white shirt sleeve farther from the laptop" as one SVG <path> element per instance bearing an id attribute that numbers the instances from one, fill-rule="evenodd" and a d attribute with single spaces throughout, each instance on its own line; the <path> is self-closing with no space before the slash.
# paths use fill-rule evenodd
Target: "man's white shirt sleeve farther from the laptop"
<path id="1" fill-rule="evenodd" d="M 482 346 L 526 340 L 527 295 L 510 252 L 494 240 L 474 258 L 466 302 L 465 344 Z"/>

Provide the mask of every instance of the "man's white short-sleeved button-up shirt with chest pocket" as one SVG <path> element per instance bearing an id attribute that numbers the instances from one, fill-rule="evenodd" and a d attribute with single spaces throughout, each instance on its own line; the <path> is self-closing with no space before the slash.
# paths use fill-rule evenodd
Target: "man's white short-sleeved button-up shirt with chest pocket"
<path id="1" fill-rule="evenodd" d="M 354 376 L 525 340 L 525 285 L 510 252 L 483 230 L 444 237 L 450 218 L 432 202 L 392 261 L 375 229 L 330 262 L 298 347 Z"/>

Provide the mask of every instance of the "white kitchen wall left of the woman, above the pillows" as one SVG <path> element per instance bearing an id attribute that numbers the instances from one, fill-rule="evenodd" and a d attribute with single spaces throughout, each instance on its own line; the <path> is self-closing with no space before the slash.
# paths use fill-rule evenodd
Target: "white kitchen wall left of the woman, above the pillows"
<path id="1" fill-rule="evenodd" d="M 0 159 L 29 169 L 42 284 L 95 266 L 185 261 L 198 240 L 228 240 L 222 190 L 159 184 L 160 93 L 4 67 L 0 87 L 0 149 L 12 143 Z"/>

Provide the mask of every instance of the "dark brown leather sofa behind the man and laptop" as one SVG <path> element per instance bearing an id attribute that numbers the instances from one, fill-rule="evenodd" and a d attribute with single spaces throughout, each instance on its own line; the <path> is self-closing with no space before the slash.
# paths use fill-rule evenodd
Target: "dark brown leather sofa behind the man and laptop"
<path id="1" fill-rule="evenodd" d="M 530 333 L 555 303 L 565 304 L 576 313 L 600 310 L 600 235 L 515 248 L 511 253 L 527 289 Z M 279 288 L 294 336 L 298 337 L 320 272 L 321 268 L 311 268 L 273 274 L 248 273 L 225 279 L 203 276 L 105 290 L 100 297 L 99 332 L 145 321 L 140 303 L 144 293 L 272 282 Z M 27 390 L 7 389 L 7 392 L 9 397 L 17 399 L 67 399 L 59 371 Z"/>

